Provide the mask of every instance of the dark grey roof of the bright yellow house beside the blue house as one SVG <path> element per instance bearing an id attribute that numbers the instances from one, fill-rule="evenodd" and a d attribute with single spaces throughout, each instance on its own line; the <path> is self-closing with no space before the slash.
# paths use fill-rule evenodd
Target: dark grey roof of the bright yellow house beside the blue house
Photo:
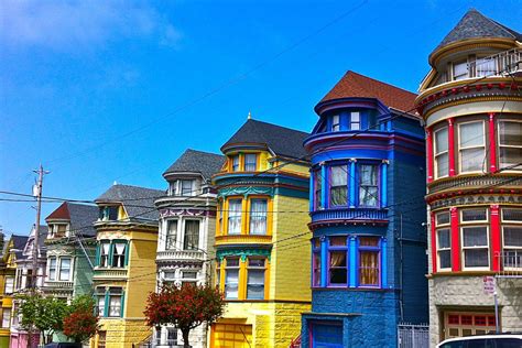
<path id="1" fill-rule="evenodd" d="M 263 144 L 275 155 L 304 159 L 307 154 L 303 141 L 309 134 L 298 130 L 248 119 L 221 146 L 221 151 L 236 144 Z"/>

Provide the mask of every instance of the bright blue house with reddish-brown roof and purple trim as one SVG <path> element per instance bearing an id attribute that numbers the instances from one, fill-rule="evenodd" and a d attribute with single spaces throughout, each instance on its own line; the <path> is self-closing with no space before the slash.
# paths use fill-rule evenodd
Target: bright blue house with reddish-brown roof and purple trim
<path id="1" fill-rule="evenodd" d="M 393 347 L 427 323 L 425 150 L 416 95 L 348 72 L 315 107 L 312 312 L 302 347 Z"/>

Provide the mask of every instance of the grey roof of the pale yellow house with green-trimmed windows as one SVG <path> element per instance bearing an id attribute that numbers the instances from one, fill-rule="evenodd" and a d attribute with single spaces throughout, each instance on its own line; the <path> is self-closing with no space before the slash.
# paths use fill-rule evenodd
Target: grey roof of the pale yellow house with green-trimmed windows
<path id="1" fill-rule="evenodd" d="M 131 185 L 112 185 L 101 196 L 96 198 L 96 203 L 121 203 L 130 219 L 157 220 L 159 213 L 155 209 L 154 200 L 163 197 L 165 192 Z"/>

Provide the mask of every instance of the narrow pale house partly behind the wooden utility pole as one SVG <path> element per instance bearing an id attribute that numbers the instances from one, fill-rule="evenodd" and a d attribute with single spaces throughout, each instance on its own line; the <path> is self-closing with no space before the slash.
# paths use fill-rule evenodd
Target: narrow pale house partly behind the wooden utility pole
<path id="1" fill-rule="evenodd" d="M 21 250 L 12 250 L 15 255 L 17 271 L 14 275 L 14 292 L 23 293 L 31 289 L 42 289 L 45 278 L 46 269 L 46 251 L 44 248 L 45 239 L 47 238 L 47 226 L 40 226 L 37 244 L 35 244 L 36 228 L 33 226 L 29 233 L 25 244 Z M 36 248 L 36 251 L 34 251 Z M 34 257 L 36 255 L 36 270 L 34 270 Z M 20 326 L 20 316 L 15 315 L 19 306 L 19 301 L 12 301 L 11 309 L 11 338 L 9 346 L 11 348 L 35 348 L 39 344 L 36 337 L 29 341 L 29 334 Z"/>

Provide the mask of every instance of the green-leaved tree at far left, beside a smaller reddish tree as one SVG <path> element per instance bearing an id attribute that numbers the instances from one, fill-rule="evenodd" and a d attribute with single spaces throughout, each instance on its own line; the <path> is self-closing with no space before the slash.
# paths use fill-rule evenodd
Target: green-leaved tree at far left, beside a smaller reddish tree
<path id="1" fill-rule="evenodd" d="M 67 303 L 62 300 L 44 297 L 40 293 L 28 293 L 18 296 L 22 315 L 20 325 L 30 334 L 39 330 L 43 334 L 43 342 L 56 331 L 63 329 L 64 317 L 67 314 Z"/>

